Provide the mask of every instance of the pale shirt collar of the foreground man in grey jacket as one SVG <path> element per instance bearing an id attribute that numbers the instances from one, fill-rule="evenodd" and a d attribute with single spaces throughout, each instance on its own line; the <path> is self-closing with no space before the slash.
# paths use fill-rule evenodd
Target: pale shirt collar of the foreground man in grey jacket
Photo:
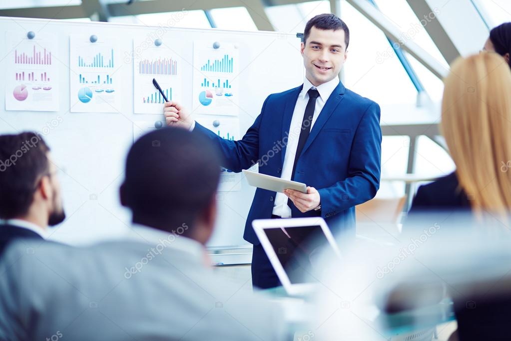
<path id="1" fill-rule="evenodd" d="M 191 238 L 183 237 L 179 234 L 181 226 L 176 228 L 175 233 L 169 233 L 141 224 L 132 224 L 127 238 L 142 243 L 151 244 L 154 248 L 172 248 L 183 251 L 200 258 L 205 256 L 204 246 Z M 181 232 L 182 233 L 182 232 Z"/>

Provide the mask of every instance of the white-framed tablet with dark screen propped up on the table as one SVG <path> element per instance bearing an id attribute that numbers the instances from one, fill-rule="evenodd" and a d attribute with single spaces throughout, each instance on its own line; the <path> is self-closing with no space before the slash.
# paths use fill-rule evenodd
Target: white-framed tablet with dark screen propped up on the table
<path id="1" fill-rule="evenodd" d="M 313 290 L 326 268 L 323 261 L 340 258 L 337 243 L 321 217 L 256 219 L 252 227 L 290 295 Z"/>

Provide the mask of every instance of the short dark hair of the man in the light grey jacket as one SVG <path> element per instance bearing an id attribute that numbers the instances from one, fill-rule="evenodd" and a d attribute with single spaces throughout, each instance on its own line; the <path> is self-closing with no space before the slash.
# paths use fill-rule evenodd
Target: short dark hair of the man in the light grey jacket
<path id="1" fill-rule="evenodd" d="M 157 129 L 128 152 L 121 200 L 135 223 L 165 225 L 167 232 L 192 228 L 214 200 L 219 177 L 220 156 L 210 140 L 181 128 Z"/>

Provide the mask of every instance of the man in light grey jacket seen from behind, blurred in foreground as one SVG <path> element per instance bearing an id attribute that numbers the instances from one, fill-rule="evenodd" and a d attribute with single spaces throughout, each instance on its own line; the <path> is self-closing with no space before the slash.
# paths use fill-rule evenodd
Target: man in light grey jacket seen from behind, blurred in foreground
<path id="1" fill-rule="evenodd" d="M 135 142 L 120 191 L 133 214 L 125 240 L 6 249 L 0 339 L 283 339 L 280 311 L 208 266 L 220 162 L 195 135 L 164 128 Z"/>

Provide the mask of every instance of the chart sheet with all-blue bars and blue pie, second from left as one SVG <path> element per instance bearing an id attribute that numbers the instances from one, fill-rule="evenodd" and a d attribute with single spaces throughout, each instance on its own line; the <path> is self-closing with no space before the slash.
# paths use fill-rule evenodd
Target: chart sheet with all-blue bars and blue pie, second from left
<path id="1" fill-rule="evenodd" d="M 123 64 L 116 38 L 72 36 L 69 52 L 71 112 L 120 112 Z"/>

